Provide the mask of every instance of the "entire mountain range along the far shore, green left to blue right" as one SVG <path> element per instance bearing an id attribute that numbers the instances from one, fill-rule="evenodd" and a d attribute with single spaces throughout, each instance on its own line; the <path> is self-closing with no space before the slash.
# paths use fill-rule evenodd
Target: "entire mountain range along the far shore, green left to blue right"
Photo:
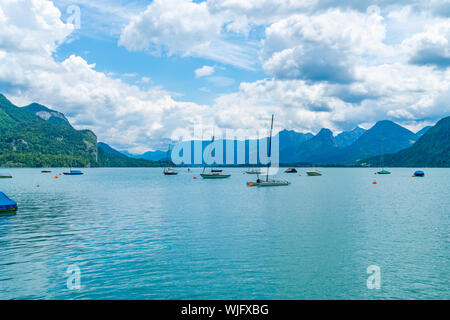
<path id="1" fill-rule="evenodd" d="M 279 139 L 280 163 L 378 166 L 380 155 L 386 154 L 386 166 L 449 166 L 448 118 L 433 127 L 424 127 L 416 134 L 388 120 L 379 121 L 368 130 L 356 127 L 338 135 L 326 128 L 316 135 L 282 130 L 276 136 Z M 165 150 L 141 155 L 117 151 L 106 143 L 97 143 L 97 136 L 91 130 L 73 128 L 61 112 L 38 103 L 17 107 L 2 94 L 0 132 L 0 166 L 147 167 L 161 166 L 167 157 Z M 234 160 L 237 162 L 238 145 L 243 144 L 247 151 L 244 159 L 247 164 L 252 157 L 248 154 L 249 146 L 256 145 L 257 154 L 260 154 L 259 147 L 262 142 L 267 142 L 267 138 L 240 143 L 218 141 L 224 146 L 224 162 L 227 145 L 233 146 Z M 191 148 L 194 146 L 194 141 L 183 143 Z M 209 145 L 210 141 L 202 141 L 202 150 Z"/>

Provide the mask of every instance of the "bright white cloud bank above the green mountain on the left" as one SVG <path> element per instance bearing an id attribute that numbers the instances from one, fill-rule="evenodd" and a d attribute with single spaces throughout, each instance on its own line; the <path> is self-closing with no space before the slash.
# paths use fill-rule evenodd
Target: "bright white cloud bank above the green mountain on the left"
<path id="1" fill-rule="evenodd" d="M 140 151 L 158 145 L 176 128 L 189 128 L 208 117 L 207 106 L 176 101 L 158 87 L 142 90 L 111 78 L 82 57 L 55 61 L 52 54 L 70 35 L 71 26 L 59 20 L 50 1 L 25 2 L 2 6 L 7 19 L 0 25 L 0 83 L 12 87 L 7 95 L 13 102 L 48 105 L 65 113 L 76 127 L 92 129 L 114 146 Z M 3 41 L 7 36 L 25 41 Z"/>

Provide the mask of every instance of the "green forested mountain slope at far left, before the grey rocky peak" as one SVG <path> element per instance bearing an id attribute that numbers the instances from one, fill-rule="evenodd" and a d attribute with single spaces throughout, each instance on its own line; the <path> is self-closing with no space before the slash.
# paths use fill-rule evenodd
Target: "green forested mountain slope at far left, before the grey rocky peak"
<path id="1" fill-rule="evenodd" d="M 90 130 L 45 121 L 0 94 L 0 166 L 96 166 Z"/>

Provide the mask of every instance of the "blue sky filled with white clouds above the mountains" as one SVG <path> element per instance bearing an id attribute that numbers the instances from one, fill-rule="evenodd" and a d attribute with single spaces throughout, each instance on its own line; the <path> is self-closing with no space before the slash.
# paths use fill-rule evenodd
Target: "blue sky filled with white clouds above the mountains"
<path id="1" fill-rule="evenodd" d="M 0 92 L 142 153 L 177 129 L 450 114 L 450 0 L 0 0 Z"/>

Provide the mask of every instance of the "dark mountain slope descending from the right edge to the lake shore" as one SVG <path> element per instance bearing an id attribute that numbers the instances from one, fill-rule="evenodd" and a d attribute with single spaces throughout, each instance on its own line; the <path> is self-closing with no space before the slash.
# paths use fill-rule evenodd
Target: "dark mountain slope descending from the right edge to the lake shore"
<path id="1" fill-rule="evenodd" d="M 360 161 L 362 165 L 379 165 L 379 157 Z M 450 167 L 450 117 L 441 119 L 412 147 L 384 156 L 389 167 Z"/>

